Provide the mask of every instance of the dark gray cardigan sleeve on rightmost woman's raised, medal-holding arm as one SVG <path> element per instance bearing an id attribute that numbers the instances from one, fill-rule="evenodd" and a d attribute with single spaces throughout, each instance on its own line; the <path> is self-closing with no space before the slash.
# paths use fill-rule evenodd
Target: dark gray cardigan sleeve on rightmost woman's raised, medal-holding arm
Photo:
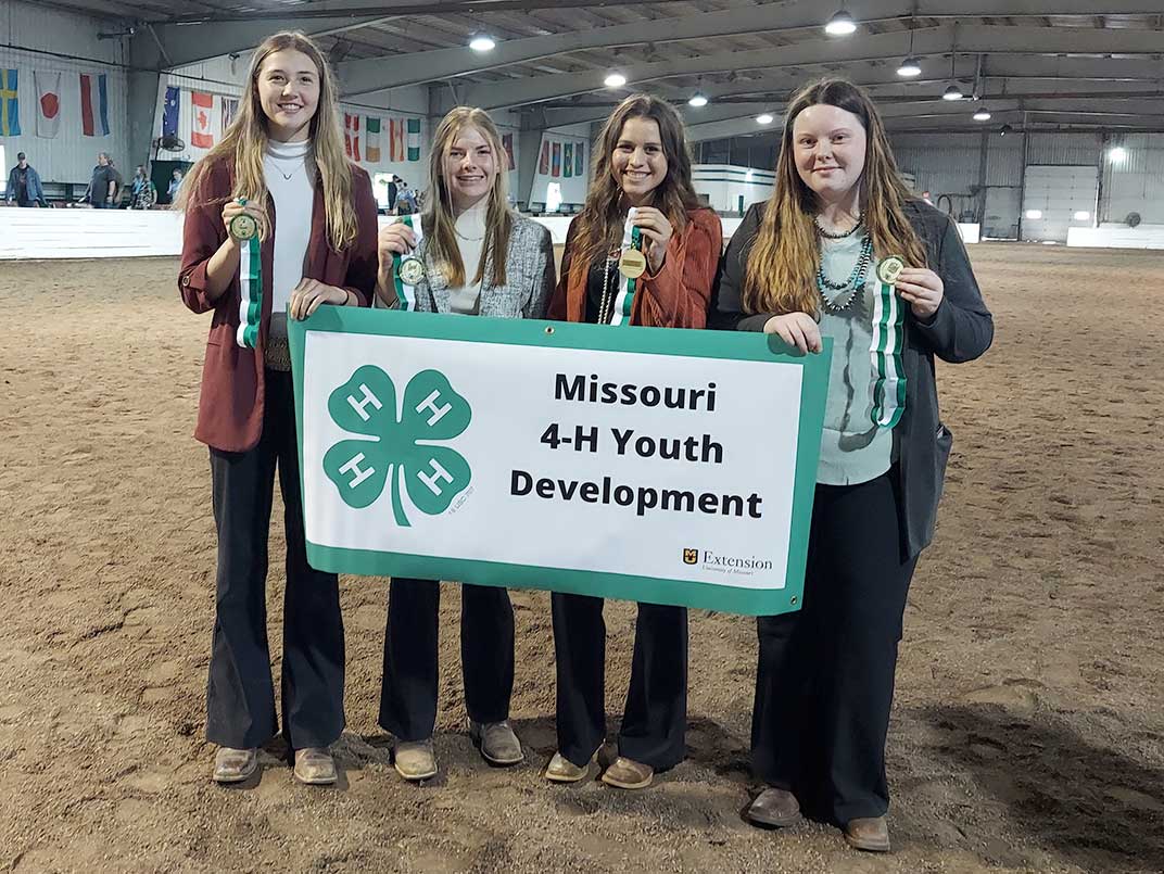
<path id="1" fill-rule="evenodd" d="M 958 226 L 941 213 L 936 219 L 925 218 L 936 243 L 931 246 L 937 255 L 932 269 L 942 278 L 944 291 L 934 317 L 925 322 L 914 321 L 916 336 L 943 361 L 952 364 L 973 361 L 991 348 L 994 318 L 982 300 Z"/>

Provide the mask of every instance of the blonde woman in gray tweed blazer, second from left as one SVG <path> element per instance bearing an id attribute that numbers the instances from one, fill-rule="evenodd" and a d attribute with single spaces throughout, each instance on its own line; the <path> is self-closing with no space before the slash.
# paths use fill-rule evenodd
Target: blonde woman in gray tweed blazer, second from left
<path id="1" fill-rule="evenodd" d="M 482 109 L 457 107 L 436 127 L 428 205 L 379 234 L 377 306 L 540 319 L 554 290 L 549 232 L 508 202 L 506 156 Z M 405 780 L 436 775 L 440 583 L 393 578 L 384 640 L 379 724 L 396 737 Z M 505 589 L 461 587 L 461 666 L 469 733 L 492 765 L 517 765 L 509 724 L 513 690 L 513 606 Z"/>

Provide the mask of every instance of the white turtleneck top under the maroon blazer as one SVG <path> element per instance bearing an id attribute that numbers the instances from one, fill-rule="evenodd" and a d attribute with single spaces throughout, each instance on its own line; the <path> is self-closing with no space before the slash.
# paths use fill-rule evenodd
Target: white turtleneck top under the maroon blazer
<path id="1" fill-rule="evenodd" d="M 307 165 L 310 142 L 269 140 L 263 178 L 275 201 L 275 270 L 271 277 L 271 334 L 286 336 L 291 292 L 303 279 L 311 242 L 314 168 Z"/>

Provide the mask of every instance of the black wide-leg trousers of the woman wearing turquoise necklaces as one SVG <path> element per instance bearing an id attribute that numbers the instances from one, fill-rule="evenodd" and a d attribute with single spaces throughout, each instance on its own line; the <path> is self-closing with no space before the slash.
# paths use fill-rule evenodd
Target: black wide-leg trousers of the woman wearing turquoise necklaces
<path id="1" fill-rule="evenodd" d="M 838 825 L 889 808 L 885 740 L 917 563 L 902 559 L 895 478 L 816 488 L 803 609 L 757 621 L 753 766 Z"/>

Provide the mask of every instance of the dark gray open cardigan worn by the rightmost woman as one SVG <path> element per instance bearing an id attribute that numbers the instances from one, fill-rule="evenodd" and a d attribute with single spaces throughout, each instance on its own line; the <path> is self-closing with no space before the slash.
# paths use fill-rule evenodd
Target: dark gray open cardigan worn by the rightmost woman
<path id="1" fill-rule="evenodd" d="M 744 265 L 766 204 L 753 204 L 732 235 L 721 264 L 709 322 L 723 331 L 762 331 L 775 313 L 747 314 L 741 310 Z M 902 523 L 902 552 L 913 557 L 934 538 L 942 481 L 952 435 L 938 418 L 934 356 L 957 364 L 973 361 L 994 339 L 991 317 L 970 267 L 958 227 L 945 213 L 922 200 L 906 204 L 906 215 L 925 244 L 930 269 L 945 286 L 942 304 L 929 322 L 906 308 L 902 368 L 906 411 L 893 431 L 897 464 L 897 512 Z"/>

